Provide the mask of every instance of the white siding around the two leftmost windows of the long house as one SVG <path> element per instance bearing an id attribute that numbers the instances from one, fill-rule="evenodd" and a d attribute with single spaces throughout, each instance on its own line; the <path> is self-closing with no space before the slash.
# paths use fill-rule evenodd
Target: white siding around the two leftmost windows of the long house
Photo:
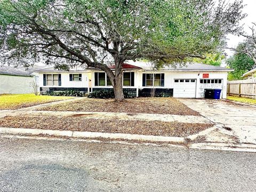
<path id="1" fill-rule="evenodd" d="M 44 86 L 43 82 L 43 74 L 61 74 L 61 86 Z M 82 81 L 69 81 L 69 74 L 82 74 Z M 88 87 L 89 83 L 89 72 L 44 72 L 39 73 L 39 86 L 40 87 Z"/>

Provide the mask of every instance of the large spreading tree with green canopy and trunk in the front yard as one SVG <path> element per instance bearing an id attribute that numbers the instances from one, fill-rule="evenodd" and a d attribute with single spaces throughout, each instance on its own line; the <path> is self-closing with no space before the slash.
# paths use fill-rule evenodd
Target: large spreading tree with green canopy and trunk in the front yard
<path id="1" fill-rule="evenodd" d="M 122 63 L 170 65 L 220 51 L 239 30 L 235 0 L 0 0 L 1 63 L 104 70 L 122 101 Z M 109 65 L 115 65 L 115 71 Z"/>

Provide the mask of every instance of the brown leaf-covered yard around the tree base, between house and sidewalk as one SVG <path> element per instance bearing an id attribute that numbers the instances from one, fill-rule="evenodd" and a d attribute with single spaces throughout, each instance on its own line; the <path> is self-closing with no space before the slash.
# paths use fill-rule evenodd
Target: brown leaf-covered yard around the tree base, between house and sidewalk
<path id="1" fill-rule="evenodd" d="M 124 102 L 114 102 L 113 99 L 84 99 L 70 101 L 38 110 L 50 111 L 93 111 L 114 113 L 146 113 L 146 114 L 172 114 L 195 115 L 194 111 L 174 98 L 136 98 L 126 99 Z"/>

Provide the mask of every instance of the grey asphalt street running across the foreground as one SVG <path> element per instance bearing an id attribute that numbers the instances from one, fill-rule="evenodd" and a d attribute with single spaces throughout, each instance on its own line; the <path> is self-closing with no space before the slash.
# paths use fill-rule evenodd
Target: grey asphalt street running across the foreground
<path id="1" fill-rule="evenodd" d="M 256 191 L 256 153 L 0 137 L 0 191 Z"/>

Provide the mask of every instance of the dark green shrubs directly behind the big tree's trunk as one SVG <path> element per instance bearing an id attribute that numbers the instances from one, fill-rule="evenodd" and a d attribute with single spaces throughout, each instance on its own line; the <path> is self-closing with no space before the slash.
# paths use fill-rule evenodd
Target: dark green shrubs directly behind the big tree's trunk
<path id="1" fill-rule="evenodd" d="M 93 91 L 88 95 L 88 98 L 95 98 L 95 99 L 110 99 L 115 98 L 114 90 L 99 90 L 99 91 Z M 134 98 L 134 96 L 124 91 L 124 98 Z"/>

